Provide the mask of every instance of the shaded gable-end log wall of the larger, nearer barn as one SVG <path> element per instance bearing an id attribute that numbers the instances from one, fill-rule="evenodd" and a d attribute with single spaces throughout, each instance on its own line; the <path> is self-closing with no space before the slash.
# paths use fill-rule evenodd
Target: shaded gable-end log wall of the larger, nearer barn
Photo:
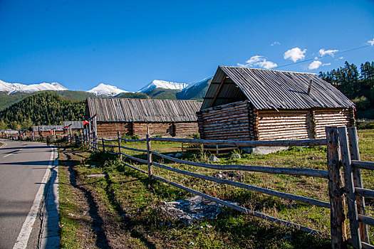
<path id="1" fill-rule="evenodd" d="M 254 140 L 255 132 L 249 118 L 256 112 L 249 112 L 249 103 L 235 102 L 211 107 L 197 112 L 199 133 L 202 139 Z"/>

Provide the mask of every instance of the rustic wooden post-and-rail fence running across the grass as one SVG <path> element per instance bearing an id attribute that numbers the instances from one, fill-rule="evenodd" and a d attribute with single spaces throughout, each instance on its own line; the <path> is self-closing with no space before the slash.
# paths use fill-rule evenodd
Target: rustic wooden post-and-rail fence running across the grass
<path id="1" fill-rule="evenodd" d="M 178 174 L 185 174 L 187 176 L 193 176 L 199 179 L 207 181 L 213 181 L 219 184 L 228 184 L 236 186 L 242 189 L 249 189 L 251 191 L 257 191 L 262 194 L 268 194 L 271 196 L 277 196 L 280 198 L 286 198 L 302 203 L 308 203 L 323 208 L 329 208 L 331 210 L 331 245 L 332 248 L 347 248 L 350 244 L 353 248 L 374 248 L 369 243 L 368 226 L 374 226 L 374 218 L 365 216 L 365 199 L 374 198 L 374 191 L 370 189 L 363 189 L 363 182 L 361 177 L 360 169 L 374 170 L 374 162 L 360 161 L 360 154 L 358 149 L 358 137 L 355 127 L 326 127 L 326 139 L 304 139 L 304 140 L 281 140 L 281 141 L 229 141 L 229 140 L 203 140 L 203 139 L 177 139 L 177 138 L 162 138 L 162 137 L 149 137 L 146 139 L 123 139 L 120 137 L 118 132 L 117 139 L 97 139 L 93 134 L 88 133 L 88 145 L 90 149 L 101 150 L 106 152 L 105 148 L 118 148 L 118 154 L 120 159 L 127 157 L 131 160 L 147 164 L 147 172 L 142 169 L 138 169 L 135 166 L 123 162 L 126 166 L 131 169 L 140 171 L 148 176 L 163 181 L 167 184 L 175 186 L 179 189 L 183 189 L 197 196 L 202 196 L 210 201 L 220 203 L 223 206 L 236 209 L 243 213 L 247 213 L 252 216 L 264 218 L 267 221 L 274 221 L 275 223 L 283 224 L 291 228 L 296 228 L 306 233 L 323 235 L 320 231 L 316 231 L 312 228 L 302 226 L 300 224 L 291 223 L 284 221 L 279 218 L 268 216 L 258 211 L 253 211 L 248 208 L 238 206 L 228 201 L 223 201 L 219 198 L 214 198 L 202 192 L 194 189 L 189 189 L 186 186 L 182 186 L 173 181 L 163 179 L 160 176 L 153 174 L 153 166 L 166 169 Z M 124 147 L 121 145 L 121 141 L 126 142 L 145 142 L 147 149 L 135 149 L 131 147 Z M 159 142 L 180 142 L 185 144 L 208 144 L 208 145 L 225 145 L 231 147 L 289 147 L 289 146 L 327 146 L 327 170 L 321 169 L 305 169 L 305 168 L 283 168 L 283 167 L 270 167 L 270 166 L 249 166 L 249 165 L 219 165 L 219 164 L 205 164 L 197 163 L 192 161 L 185 161 L 174 157 L 169 157 L 164 154 L 160 154 L 152 150 L 152 141 Z M 116 145 L 105 144 L 105 142 L 116 142 Z M 147 153 L 147 160 L 132 157 L 128 154 L 123 153 L 123 150 L 133 150 L 137 152 Z M 254 171 L 264 172 L 269 174 L 289 174 L 299 176 L 311 176 L 328 179 L 328 191 L 330 201 L 321 201 L 313 198 L 304 196 L 297 196 L 294 194 L 287 194 L 284 192 L 274 191 L 271 189 L 265 189 L 258 186 L 251 186 L 249 184 L 243 184 L 237 181 L 230 181 L 227 179 L 219 179 L 212 176 L 205 176 L 202 174 L 192 173 L 189 171 L 175 169 L 165 164 L 160 164 L 152 161 L 152 155 L 174 161 L 180 164 L 187 164 L 192 166 L 199 166 L 209 169 L 219 170 L 237 170 L 237 171 Z M 346 231 L 346 206 L 348 206 L 348 220 L 350 224 L 350 235 L 348 238 Z"/>

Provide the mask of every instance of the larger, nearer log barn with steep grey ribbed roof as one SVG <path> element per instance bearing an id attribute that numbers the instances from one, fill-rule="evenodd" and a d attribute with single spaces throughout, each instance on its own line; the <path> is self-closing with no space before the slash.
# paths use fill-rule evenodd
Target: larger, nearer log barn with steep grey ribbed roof
<path id="1" fill-rule="evenodd" d="M 219 66 L 197 112 L 202 139 L 324 138 L 355 125 L 354 104 L 312 73 Z"/>

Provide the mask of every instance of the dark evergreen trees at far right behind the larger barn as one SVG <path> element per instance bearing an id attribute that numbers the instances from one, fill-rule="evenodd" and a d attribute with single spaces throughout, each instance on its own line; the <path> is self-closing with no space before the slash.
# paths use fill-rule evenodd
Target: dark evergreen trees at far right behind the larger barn
<path id="1" fill-rule="evenodd" d="M 318 76 L 355 103 L 357 118 L 374 119 L 374 62 L 362 63 L 359 71 L 355 64 L 346 61 L 343 67 Z"/>

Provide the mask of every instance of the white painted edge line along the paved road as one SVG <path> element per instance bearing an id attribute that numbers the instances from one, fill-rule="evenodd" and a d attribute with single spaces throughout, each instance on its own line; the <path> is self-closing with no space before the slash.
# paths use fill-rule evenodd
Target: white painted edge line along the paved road
<path id="1" fill-rule="evenodd" d="M 19 236 L 14 244 L 13 249 L 24 249 L 27 246 L 28 238 L 30 237 L 31 231 L 33 229 L 33 223 L 35 223 L 36 216 L 38 216 L 39 206 L 41 203 L 41 199 L 43 197 L 43 189 L 47 183 L 49 174 L 51 173 L 51 166 L 55 160 L 53 160 L 55 154 L 55 149 L 52 149 L 51 159 L 49 159 L 48 168 L 46 170 L 46 174 L 44 174 L 43 180 L 41 180 L 41 186 L 38 189 L 38 193 L 36 194 L 35 200 L 33 201 L 33 206 L 31 206 L 31 210 L 28 213 L 24 225 L 19 232 Z"/>

